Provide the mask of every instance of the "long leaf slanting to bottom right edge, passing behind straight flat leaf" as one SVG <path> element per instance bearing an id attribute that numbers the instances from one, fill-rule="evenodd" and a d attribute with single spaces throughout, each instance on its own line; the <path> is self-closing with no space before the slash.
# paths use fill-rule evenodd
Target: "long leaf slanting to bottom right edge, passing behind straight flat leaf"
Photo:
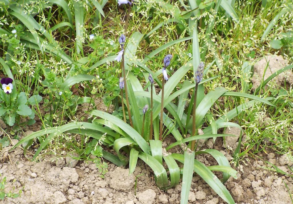
<path id="1" fill-rule="evenodd" d="M 184 156 L 180 154 L 172 154 L 172 157 L 183 163 L 184 162 Z M 222 182 L 218 179 L 218 177 L 213 174 L 204 164 L 199 162 L 198 160 L 194 160 L 194 166 L 193 169 L 195 173 L 197 173 L 200 177 L 202 177 L 207 184 L 221 197 L 223 200 L 225 200 L 229 204 L 235 204 L 232 196 L 230 195 L 227 188 L 222 184 Z"/>

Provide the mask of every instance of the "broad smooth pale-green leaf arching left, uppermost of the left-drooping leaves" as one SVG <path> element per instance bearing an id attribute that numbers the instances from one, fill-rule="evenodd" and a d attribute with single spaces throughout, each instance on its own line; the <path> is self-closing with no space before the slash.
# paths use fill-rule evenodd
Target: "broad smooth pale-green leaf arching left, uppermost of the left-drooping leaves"
<path id="1" fill-rule="evenodd" d="M 123 131 L 125 131 L 125 133 L 127 133 L 137 143 L 137 145 L 139 145 L 139 147 L 144 152 L 146 152 L 148 154 L 151 153 L 151 148 L 149 147 L 147 142 L 142 138 L 142 136 L 139 135 L 139 133 L 134 128 L 132 128 L 130 125 L 128 125 L 127 123 L 125 123 L 121 119 L 119 119 L 116 116 L 113 116 L 111 114 L 105 113 L 103 111 L 99 111 L 99 110 L 93 110 L 91 112 L 91 114 L 114 123 L 119 128 L 121 128 Z"/>

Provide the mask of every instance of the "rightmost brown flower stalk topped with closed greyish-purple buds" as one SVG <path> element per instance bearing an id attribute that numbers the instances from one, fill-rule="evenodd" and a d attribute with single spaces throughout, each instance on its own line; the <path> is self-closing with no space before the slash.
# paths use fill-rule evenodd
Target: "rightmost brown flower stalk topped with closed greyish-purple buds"
<path id="1" fill-rule="evenodd" d="M 201 62 L 198 65 L 197 70 L 195 71 L 195 88 L 193 91 L 194 100 L 193 100 L 193 110 L 192 110 L 192 133 L 191 133 L 191 136 L 197 135 L 197 127 L 196 127 L 196 123 L 195 123 L 196 96 L 197 96 L 198 83 L 200 83 L 203 78 L 204 67 L 205 67 L 205 64 L 203 62 Z M 194 151 L 194 149 L 195 149 L 195 140 L 193 140 L 191 142 L 191 150 Z"/>

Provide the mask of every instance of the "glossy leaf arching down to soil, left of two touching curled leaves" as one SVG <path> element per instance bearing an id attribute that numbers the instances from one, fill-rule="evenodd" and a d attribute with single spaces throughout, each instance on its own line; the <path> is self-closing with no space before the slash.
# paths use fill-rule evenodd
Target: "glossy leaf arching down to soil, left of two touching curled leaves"
<path id="1" fill-rule="evenodd" d="M 157 186 L 160 189 L 168 188 L 168 176 L 165 168 L 153 156 L 145 153 L 139 153 L 138 157 L 143 160 L 154 171 Z"/>

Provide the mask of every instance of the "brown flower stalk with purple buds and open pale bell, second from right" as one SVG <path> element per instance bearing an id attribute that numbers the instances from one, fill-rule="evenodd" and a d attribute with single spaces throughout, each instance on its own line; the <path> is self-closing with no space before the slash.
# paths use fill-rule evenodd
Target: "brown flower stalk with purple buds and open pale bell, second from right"
<path id="1" fill-rule="evenodd" d="M 163 79 L 162 79 L 162 95 L 161 95 L 161 118 L 160 118 L 160 133 L 159 133 L 159 139 L 162 140 L 162 136 L 163 136 L 163 109 L 164 109 L 164 84 L 165 84 L 165 80 L 168 80 L 168 75 L 167 75 L 167 71 L 166 68 L 170 65 L 171 63 L 171 59 L 172 59 L 172 55 L 168 54 L 164 57 L 164 67 L 162 70 L 163 73 Z"/>

